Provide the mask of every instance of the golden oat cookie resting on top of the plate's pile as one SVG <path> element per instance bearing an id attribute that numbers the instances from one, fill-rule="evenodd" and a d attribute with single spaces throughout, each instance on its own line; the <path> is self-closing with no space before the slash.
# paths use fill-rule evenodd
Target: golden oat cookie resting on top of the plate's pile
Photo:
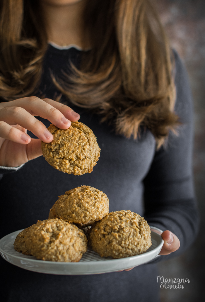
<path id="1" fill-rule="evenodd" d="M 108 213 L 109 199 L 106 194 L 90 186 L 81 186 L 59 196 L 50 210 L 49 218 L 57 217 L 85 227 Z"/>

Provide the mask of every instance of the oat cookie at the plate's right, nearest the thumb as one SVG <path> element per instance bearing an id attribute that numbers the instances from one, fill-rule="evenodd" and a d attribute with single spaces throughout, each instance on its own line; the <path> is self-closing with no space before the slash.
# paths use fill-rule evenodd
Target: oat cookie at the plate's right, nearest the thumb
<path id="1" fill-rule="evenodd" d="M 101 257 L 124 258 L 145 252 L 151 245 L 150 226 L 131 211 L 109 213 L 90 229 L 89 243 Z"/>

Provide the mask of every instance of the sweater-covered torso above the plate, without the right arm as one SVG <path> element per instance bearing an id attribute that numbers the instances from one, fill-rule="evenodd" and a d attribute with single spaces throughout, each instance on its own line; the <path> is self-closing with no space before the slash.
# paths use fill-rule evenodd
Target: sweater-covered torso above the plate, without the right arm
<path id="1" fill-rule="evenodd" d="M 80 51 L 74 48 L 57 50 L 49 47 L 40 85 L 45 97 L 54 98 L 59 94 L 49 80 L 49 68 L 59 76 L 61 69 L 65 70 L 68 56 L 77 65 Z M 109 198 L 110 211 L 131 210 L 143 215 L 142 180 L 150 168 L 155 152 L 153 135 L 150 131 L 145 131 L 138 140 L 127 139 L 116 135 L 106 124 L 101 124 L 99 116 L 70 103 L 69 106 L 80 114 L 79 121 L 90 127 L 97 137 L 101 148 L 97 165 L 90 174 L 68 175 L 55 170 L 41 156 L 26 163 L 19 171 L 5 175 L 0 190 L 3 199 L 7 200 L 5 211 L 8 211 L 8 203 L 10 205 L 9 217 L 12 223 L 9 229 L 1 228 L 1 237 L 30 226 L 38 219 L 47 219 L 49 209 L 58 199 L 58 195 L 80 185 L 90 185 L 103 191 Z M 40 117 L 39 120 L 46 127 L 50 124 Z M 32 133 L 29 134 L 34 137 Z M 3 224 L 5 219 L 5 216 L 1 219 Z"/>

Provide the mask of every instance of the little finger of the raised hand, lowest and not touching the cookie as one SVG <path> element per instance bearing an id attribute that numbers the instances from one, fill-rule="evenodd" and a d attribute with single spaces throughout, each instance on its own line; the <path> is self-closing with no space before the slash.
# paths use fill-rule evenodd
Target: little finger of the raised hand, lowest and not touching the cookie
<path id="1" fill-rule="evenodd" d="M 27 133 L 8 125 L 4 121 L 0 121 L 0 137 L 24 145 L 31 141 L 31 138 Z"/>

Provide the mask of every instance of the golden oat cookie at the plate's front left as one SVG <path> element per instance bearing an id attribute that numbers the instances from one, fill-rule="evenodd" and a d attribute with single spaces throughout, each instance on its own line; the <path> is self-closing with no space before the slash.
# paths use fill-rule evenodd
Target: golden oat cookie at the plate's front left
<path id="1" fill-rule="evenodd" d="M 87 251 L 87 238 L 73 224 L 61 219 L 47 219 L 30 226 L 25 246 L 37 259 L 78 262 Z"/>

